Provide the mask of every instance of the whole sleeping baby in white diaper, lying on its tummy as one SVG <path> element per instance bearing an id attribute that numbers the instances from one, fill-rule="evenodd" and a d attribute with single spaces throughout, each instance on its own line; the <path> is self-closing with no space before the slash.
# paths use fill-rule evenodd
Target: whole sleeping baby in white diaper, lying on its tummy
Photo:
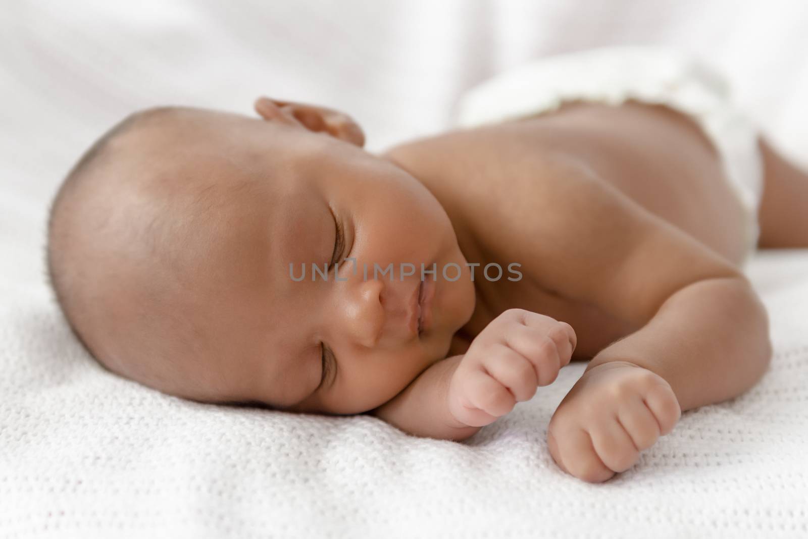
<path id="1" fill-rule="evenodd" d="M 589 361 L 547 443 L 602 482 L 761 378 L 744 269 L 758 246 L 808 246 L 808 176 L 726 90 L 675 51 L 575 52 L 380 154 L 301 102 L 138 111 L 53 199 L 51 285 L 125 378 L 420 437 L 465 440 Z"/>

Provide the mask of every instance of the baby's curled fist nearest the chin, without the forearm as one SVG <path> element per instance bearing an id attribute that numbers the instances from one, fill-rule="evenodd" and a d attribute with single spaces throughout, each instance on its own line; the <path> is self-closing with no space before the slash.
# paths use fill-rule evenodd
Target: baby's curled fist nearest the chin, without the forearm
<path id="1" fill-rule="evenodd" d="M 508 309 L 471 342 L 449 382 L 452 416 L 482 427 L 532 399 L 570 362 L 578 342 L 566 322 L 524 309 Z"/>

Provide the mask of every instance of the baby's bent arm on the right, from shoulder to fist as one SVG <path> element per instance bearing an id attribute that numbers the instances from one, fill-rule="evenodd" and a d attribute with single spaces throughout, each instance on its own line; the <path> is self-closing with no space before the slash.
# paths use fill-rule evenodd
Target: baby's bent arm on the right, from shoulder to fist
<path id="1" fill-rule="evenodd" d="M 525 231 L 544 239 L 534 274 L 638 328 L 595 355 L 548 427 L 558 465 L 599 482 L 632 466 L 681 412 L 753 386 L 772 352 L 768 316 L 718 253 L 574 161 L 551 172 Z"/>

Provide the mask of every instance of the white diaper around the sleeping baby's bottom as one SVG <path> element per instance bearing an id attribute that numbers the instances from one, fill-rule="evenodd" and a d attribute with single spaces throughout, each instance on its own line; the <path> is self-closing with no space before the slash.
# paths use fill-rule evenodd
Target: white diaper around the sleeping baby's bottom
<path id="1" fill-rule="evenodd" d="M 760 227 L 763 161 L 758 131 L 734 105 L 720 73 L 692 56 L 659 46 L 595 48 L 520 65 L 475 86 L 458 103 L 458 127 L 474 127 L 553 111 L 568 101 L 619 105 L 628 99 L 671 107 L 701 126 L 722 157 L 747 213 L 746 267 Z"/>

